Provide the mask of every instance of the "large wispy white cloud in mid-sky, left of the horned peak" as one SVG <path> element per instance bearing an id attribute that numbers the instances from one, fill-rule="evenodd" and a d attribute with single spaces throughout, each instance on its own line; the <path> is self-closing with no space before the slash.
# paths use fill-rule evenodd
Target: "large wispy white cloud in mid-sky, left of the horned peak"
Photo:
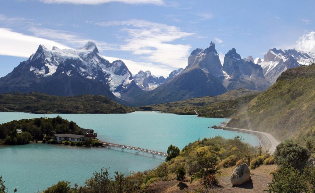
<path id="1" fill-rule="evenodd" d="M 139 55 L 146 62 L 159 63 L 178 69 L 186 66 L 191 45 L 171 44 L 176 39 L 191 36 L 194 33 L 183 32 L 179 27 L 168 26 L 145 20 L 92 22 L 95 25 L 125 26 L 121 32 L 124 44 L 119 46 L 121 51 L 129 51 Z"/>

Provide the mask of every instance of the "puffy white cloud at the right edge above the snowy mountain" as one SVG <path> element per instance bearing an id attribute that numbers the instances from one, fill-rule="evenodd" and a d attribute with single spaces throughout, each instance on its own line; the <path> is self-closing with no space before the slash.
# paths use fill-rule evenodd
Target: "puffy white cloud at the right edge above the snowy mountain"
<path id="1" fill-rule="evenodd" d="M 315 53 L 315 31 L 302 35 L 296 41 L 296 47 L 302 51 L 309 51 Z"/>

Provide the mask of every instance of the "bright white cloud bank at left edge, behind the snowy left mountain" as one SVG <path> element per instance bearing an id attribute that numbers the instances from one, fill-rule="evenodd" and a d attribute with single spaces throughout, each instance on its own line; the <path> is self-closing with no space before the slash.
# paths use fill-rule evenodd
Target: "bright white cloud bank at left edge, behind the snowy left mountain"
<path id="1" fill-rule="evenodd" d="M 30 57 L 40 44 L 47 48 L 69 48 L 52 40 L 16 33 L 8 28 L 0 28 L 0 42 L 0 55 L 17 57 Z"/>

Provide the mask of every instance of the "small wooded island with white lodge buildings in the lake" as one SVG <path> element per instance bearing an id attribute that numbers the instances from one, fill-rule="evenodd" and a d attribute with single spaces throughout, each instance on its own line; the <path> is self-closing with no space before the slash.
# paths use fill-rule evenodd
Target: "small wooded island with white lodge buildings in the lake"
<path id="1" fill-rule="evenodd" d="M 61 118 L 33 118 L 0 125 L 0 144 L 23 145 L 29 142 L 77 146 L 99 146 L 93 129 L 80 128 L 73 121 Z"/>

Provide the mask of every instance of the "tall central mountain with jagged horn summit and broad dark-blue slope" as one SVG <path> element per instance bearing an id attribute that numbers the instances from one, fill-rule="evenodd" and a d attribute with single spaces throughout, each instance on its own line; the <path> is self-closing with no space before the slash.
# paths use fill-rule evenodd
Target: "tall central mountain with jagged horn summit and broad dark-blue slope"
<path id="1" fill-rule="evenodd" d="M 223 78 L 219 54 L 211 42 L 204 50 L 192 51 L 182 72 L 151 92 L 138 96 L 132 103 L 142 106 L 223 94 L 227 91 L 222 85 Z"/>

